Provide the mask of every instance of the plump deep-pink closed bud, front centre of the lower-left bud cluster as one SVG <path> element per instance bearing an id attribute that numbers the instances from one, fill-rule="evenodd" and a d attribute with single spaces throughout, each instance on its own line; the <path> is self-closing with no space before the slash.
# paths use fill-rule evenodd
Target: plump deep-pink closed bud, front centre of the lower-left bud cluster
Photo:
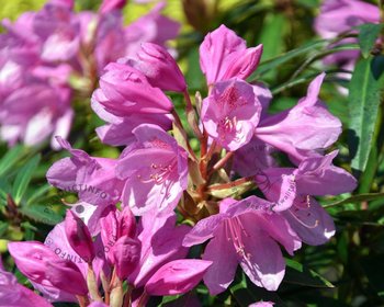
<path id="1" fill-rule="evenodd" d="M 140 259 L 142 243 L 127 236 L 120 238 L 112 248 L 113 264 L 120 280 L 125 280 Z"/>

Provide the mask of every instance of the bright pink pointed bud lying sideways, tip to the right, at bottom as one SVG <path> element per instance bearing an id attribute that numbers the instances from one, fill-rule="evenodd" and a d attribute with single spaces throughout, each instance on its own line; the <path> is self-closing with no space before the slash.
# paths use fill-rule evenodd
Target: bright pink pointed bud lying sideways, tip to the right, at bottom
<path id="1" fill-rule="evenodd" d="M 191 291 L 203 278 L 212 261 L 181 259 L 162 265 L 147 282 L 149 295 L 178 295 Z"/>

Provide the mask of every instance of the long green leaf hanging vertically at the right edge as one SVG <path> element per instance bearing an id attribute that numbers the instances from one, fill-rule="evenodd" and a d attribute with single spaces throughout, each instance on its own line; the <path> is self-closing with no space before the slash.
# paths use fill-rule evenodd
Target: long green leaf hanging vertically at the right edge
<path id="1" fill-rule="evenodd" d="M 381 103 L 384 56 L 358 61 L 349 86 L 351 167 L 365 170 Z"/>

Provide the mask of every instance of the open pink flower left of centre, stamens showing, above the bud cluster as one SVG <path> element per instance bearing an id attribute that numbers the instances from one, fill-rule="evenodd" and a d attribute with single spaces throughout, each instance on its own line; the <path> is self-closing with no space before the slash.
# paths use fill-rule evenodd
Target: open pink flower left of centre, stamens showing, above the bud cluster
<path id="1" fill-rule="evenodd" d="M 136 141 L 116 166 L 125 180 L 122 201 L 135 215 L 156 208 L 172 211 L 188 184 L 188 154 L 160 127 L 143 124 L 134 129 Z"/>

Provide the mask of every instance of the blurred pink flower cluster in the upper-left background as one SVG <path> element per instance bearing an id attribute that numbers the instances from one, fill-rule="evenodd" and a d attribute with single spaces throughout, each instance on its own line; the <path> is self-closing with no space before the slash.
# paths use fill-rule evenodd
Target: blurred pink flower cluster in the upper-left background
<path id="1" fill-rule="evenodd" d="M 134 56 L 142 42 L 165 45 L 180 25 L 160 14 L 123 25 L 125 1 L 104 0 L 98 13 L 75 12 L 74 0 L 50 0 L 41 11 L 2 22 L 0 138 L 36 145 L 69 134 L 76 96 L 90 96 L 110 61 Z M 160 31 L 161 30 L 161 31 Z M 55 138 L 52 146 L 59 148 Z"/>

